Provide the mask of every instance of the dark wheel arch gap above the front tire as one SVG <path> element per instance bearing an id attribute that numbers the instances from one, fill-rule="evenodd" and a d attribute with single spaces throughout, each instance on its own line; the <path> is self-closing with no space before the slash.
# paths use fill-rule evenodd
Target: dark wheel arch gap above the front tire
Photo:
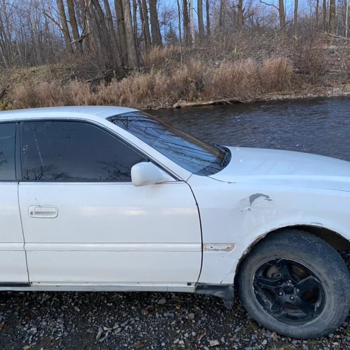
<path id="1" fill-rule="evenodd" d="M 237 272 L 239 271 L 240 265 L 243 262 L 243 260 L 249 255 L 250 250 L 260 241 L 265 239 L 266 237 L 275 234 L 279 231 L 283 231 L 287 228 L 295 228 L 299 229 L 301 231 L 306 231 L 309 233 L 314 234 L 315 236 L 322 238 L 324 241 L 326 241 L 329 245 L 331 245 L 335 250 L 350 250 L 350 241 L 347 240 L 345 237 L 343 237 L 341 234 L 326 228 L 326 227 L 320 227 L 320 226 L 313 226 L 313 225 L 290 225 L 285 227 L 279 227 L 276 229 L 273 229 L 271 231 L 266 232 L 263 235 L 260 235 L 253 243 L 251 243 L 247 249 L 245 249 L 245 252 L 239 259 L 236 271 L 235 271 L 235 278 L 237 277 Z"/>

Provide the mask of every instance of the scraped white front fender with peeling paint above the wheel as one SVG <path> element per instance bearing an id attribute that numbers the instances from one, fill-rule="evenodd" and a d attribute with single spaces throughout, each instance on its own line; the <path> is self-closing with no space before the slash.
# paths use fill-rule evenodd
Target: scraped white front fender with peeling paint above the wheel
<path id="1" fill-rule="evenodd" d="M 251 246 L 279 228 L 322 227 L 350 239 L 349 192 L 227 183 L 202 176 L 191 177 L 189 184 L 202 225 L 201 283 L 233 283 L 237 265 Z"/>

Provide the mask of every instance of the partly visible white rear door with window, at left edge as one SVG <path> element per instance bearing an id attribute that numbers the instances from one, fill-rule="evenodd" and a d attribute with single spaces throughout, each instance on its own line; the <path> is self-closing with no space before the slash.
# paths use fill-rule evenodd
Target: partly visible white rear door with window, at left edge
<path id="1" fill-rule="evenodd" d="M 28 283 L 15 168 L 16 123 L 0 123 L 0 287 Z"/>

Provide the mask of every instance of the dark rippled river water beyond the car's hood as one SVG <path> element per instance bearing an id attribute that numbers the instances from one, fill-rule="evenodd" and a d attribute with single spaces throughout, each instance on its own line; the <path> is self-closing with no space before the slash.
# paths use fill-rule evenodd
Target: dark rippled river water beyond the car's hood
<path id="1" fill-rule="evenodd" d="M 151 114 L 208 142 L 350 161 L 348 97 L 158 109 Z"/>

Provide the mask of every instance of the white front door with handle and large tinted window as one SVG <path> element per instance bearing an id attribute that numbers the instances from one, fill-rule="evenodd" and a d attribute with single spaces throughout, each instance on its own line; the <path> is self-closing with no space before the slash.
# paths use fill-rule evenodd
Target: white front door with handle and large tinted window
<path id="1" fill-rule="evenodd" d="M 82 121 L 21 123 L 19 205 L 33 283 L 186 284 L 201 267 L 190 187 L 135 187 L 146 157 Z"/>

